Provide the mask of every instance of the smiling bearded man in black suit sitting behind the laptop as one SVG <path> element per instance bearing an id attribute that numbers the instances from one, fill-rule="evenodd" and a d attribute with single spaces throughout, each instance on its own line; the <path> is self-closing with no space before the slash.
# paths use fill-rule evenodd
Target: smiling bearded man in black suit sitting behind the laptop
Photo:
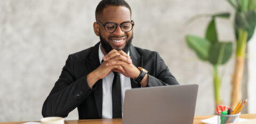
<path id="1" fill-rule="evenodd" d="M 102 0 L 95 17 L 100 42 L 68 56 L 43 117 L 67 117 L 77 108 L 79 119 L 122 118 L 125 90 L 179 84 L 157 52 L 131 45 L 134 22 L 124 0 Z"/>

